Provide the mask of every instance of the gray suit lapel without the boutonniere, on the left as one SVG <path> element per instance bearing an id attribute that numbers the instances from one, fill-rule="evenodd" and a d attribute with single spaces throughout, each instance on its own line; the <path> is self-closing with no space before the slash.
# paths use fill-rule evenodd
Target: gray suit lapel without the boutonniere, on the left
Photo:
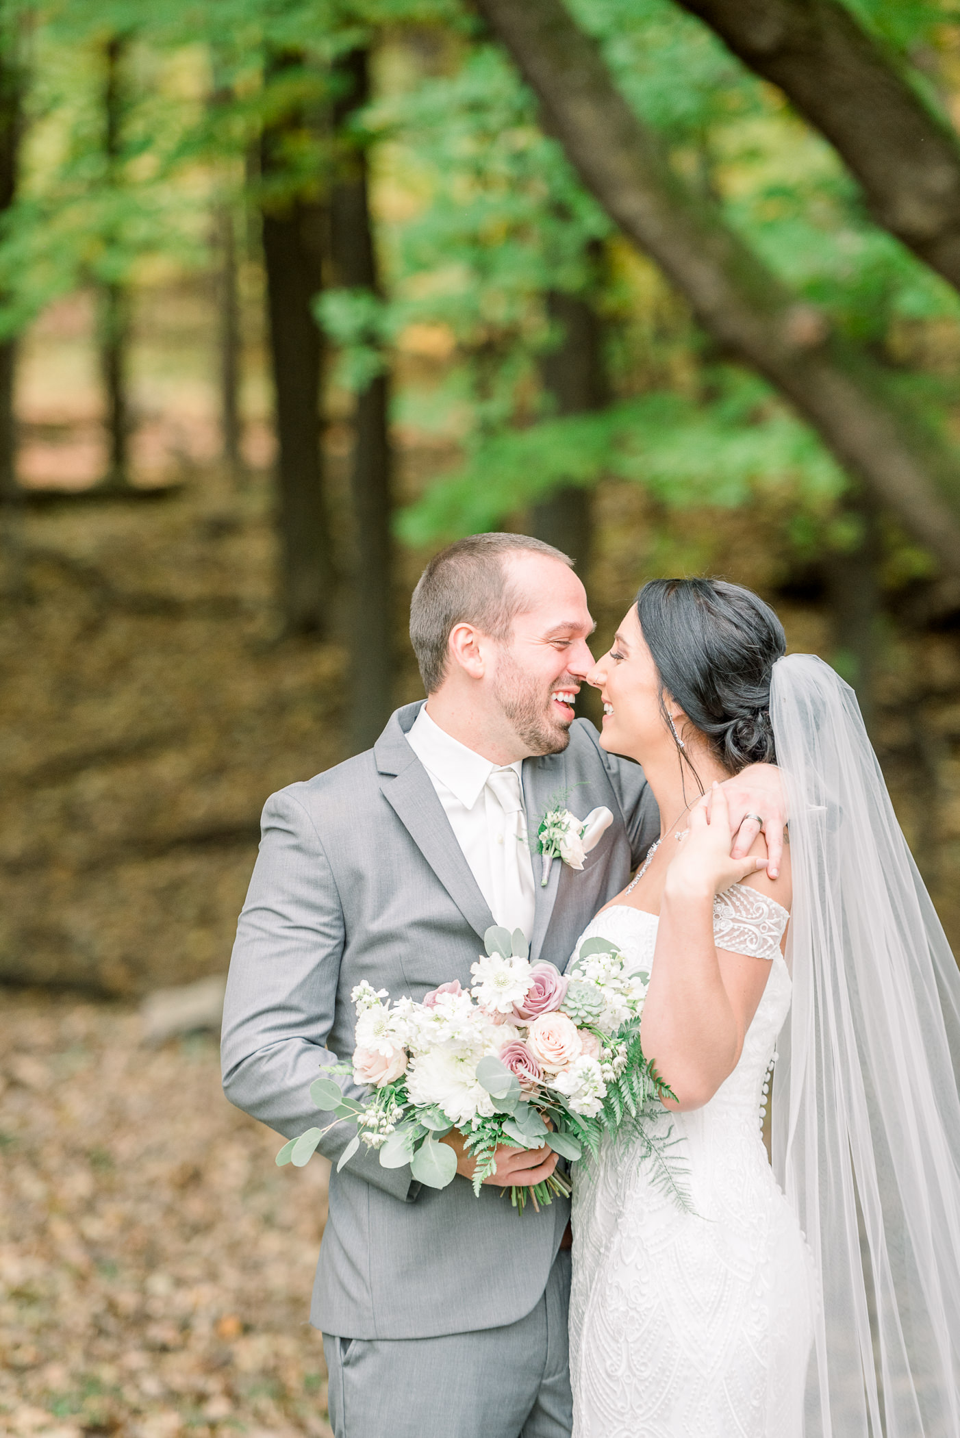
<path id="1" fill-rule="evenodd" d="M 379 787 L 401 824 L 444 886 L 467 923 L 483 938 L 493 915 L 437 798 L 430 775 L 410 748 L 405 731 L 420 705 L 397 710 L 378 739 L 374 754 Z M 405 722 L 410 718 L 410 722 Z"/>

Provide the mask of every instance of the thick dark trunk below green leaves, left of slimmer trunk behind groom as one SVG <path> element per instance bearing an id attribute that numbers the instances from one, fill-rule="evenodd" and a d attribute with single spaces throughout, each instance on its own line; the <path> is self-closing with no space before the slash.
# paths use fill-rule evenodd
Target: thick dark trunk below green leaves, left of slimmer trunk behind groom
<path id="1" fill-rule="evenodd" d="M 299 56 L 285 56 L 277 69 L 299 63 Z M 296 134 L 302 127 L 302 116 L 290 115 L 264 129 L 260 158 L 264 183 L 283 175 L 285 134 Z M 326 214 L 316 200 L 303 194 L 264 198 L 263 259 L 279 450 L 280 603 L 287 634 L 326 634 L 333 598 L 320 446 L 323 336 L 312 311 L 322 283 L 325 229 Z"/>

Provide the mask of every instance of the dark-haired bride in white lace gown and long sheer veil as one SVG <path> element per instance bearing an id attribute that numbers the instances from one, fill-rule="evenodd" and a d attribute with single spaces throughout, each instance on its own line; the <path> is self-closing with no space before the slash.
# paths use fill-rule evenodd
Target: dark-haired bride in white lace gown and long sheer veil
<path id="1" fill-rule="evenodd" d="M 661 838 L 581 943 L 650 971 L 687 1202 L 638 1146 L 582 1165 L 575 1438 L 960 1435 L 960 976 L 852 692 L 785 647 L 750 591 L 658 580 L 591 674 Z M 762 835 L 730 857 L 716 787 L 757 761 L 790 800 L 776 879 Z"/>

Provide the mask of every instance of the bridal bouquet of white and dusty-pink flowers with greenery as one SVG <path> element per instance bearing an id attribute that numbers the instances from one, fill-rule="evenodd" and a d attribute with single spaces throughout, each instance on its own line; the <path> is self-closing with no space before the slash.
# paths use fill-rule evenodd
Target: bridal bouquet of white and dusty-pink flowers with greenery
<path id="1" fill-rule="evenodd" d="M 497 1145 L 539 1149 L 565 1159 L 596 1155 L 605 1130 L 631 1123 L 642 1150 L 671 1181 L 670 1146 L 644 1114 L 663 1113 L 673 1097 L 644 1058 L 640 1020 L 650 975 L 629 974 L 608 939 L 586 939 L 568 974 L 530 963 L 523 933 L 491 928 L 486 953 L 471 966 L 470 991 L 458 979 L 441 984 L 417 1004 L 387 1004 L 387 989 L 358 984 L 356 1047 L 352 1066 L 325 1068 L 310 1086 L 318 1109 L 332 1113 L 277 1153 L 277 1163 L 302 1166 L 320 1139 L 342 1120 L 356 1123 L 338 1169 L 361 1143 L 379 1152 L 384 1168 L 410 1163 L 421 1183 L 446 1188 L 457 1172 L 454 1150 L 440 1140 L 457 1127 L 476 1158 L 474 1192 L 496 1173 Z M 338 1073 L 352 1073 L 366 1089 L 362 1102 L 345 1097 Z M 553 1194 L 569 1195 L 553 1172 L 532 1188 L 512 1188 L 514 1206 L 527 1196 L 539 1211 Z"/>

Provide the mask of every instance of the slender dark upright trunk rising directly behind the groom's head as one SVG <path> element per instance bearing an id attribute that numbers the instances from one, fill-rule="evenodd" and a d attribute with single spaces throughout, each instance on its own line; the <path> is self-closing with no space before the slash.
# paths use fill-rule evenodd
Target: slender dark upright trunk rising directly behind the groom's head
<path id="1" fill-rule="evenodd" d="M 336 134 L 369 95 L 366 50 L 351 50 L 336 63 L 341 92 Z M 348 141 L 345 142 L 348 144 Z M 379 293 L 369 214 L 366 155 L 343 148 L 331 191 L 331 247 L 336 283 Z M 391 542 L 389 383 L 375 375 L 356 395 L 351 502 L 355 532 L 349 605 L 351 719 L 356 751 L 379 736 L 392 707 L 394 604 Z"/>

